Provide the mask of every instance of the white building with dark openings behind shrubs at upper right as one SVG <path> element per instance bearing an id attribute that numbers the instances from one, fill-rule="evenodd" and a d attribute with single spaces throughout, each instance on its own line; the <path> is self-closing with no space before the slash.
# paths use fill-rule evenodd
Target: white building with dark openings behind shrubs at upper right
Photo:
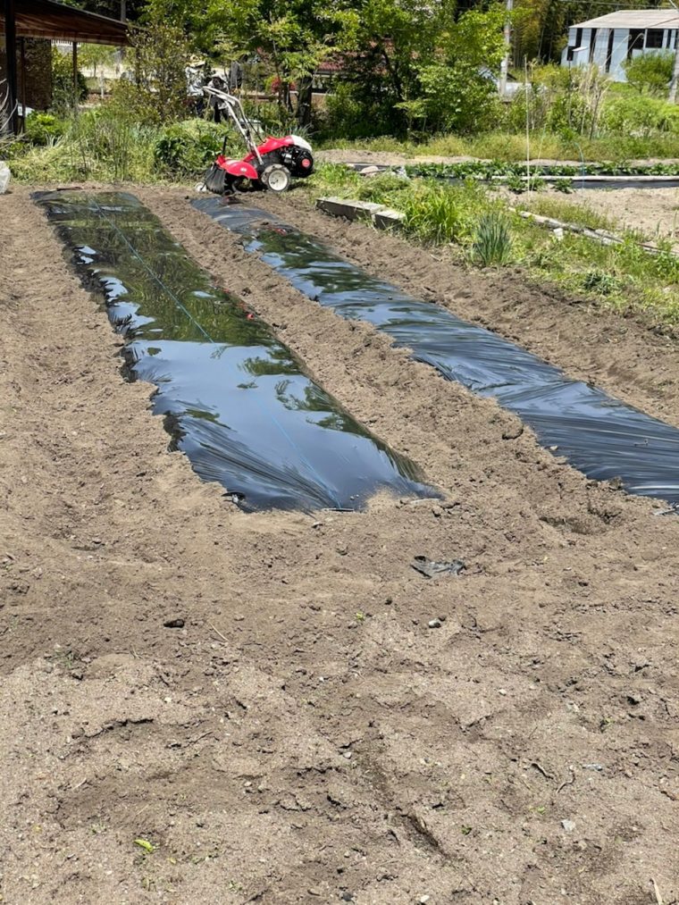
<path id="1" fill-rule="evenodd" d="M 614 81 L 626 81 L 623 63 L 640 53 L 673 51 L 679 10 L 628 9 L 571 25 L 562 66 L 596 63 Z"/>

